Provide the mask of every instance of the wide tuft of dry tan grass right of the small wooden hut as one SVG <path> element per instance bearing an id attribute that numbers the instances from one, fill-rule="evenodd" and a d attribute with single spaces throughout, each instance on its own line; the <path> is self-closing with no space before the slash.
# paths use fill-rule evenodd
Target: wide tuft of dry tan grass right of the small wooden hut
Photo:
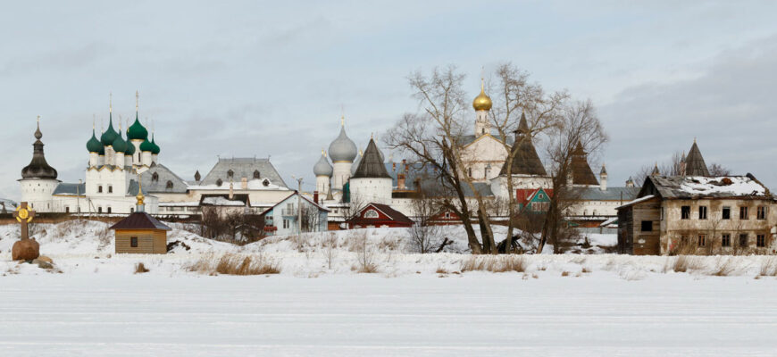
<path id="1" fill-rule="evenodd" d="M 280 266 L 269 261 L 262 254 L 240 255 L 225 253 L 221 257 L 208 254 L 188 266 L 189 271 L 200 274 L 265 275 L 280 273 Z"/>

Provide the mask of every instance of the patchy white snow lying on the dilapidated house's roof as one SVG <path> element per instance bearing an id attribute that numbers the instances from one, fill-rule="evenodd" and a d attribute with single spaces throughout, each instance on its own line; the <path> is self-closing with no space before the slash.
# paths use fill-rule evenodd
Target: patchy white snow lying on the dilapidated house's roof
<path id="1" fill-rule="evenodd" d="M 766 195 L 764 186 L 746 176 L 692 176 L 681 182 L 680 189 L 694 195 Z"/>

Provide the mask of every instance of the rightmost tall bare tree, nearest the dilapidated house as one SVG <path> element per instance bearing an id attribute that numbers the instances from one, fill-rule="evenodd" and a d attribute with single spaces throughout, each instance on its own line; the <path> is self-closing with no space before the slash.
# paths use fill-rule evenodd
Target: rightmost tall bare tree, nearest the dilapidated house
<path id="1" fill-rule="evenodd" d="M 553 195 L 550 195 L 545 224 L 537 252 L 548 239 L 554 243 L 554 251 L 560 250 L 559 243 L 569 238 L 570 232 L 564 222 L 564 212 L 574 204 L 580 192 L 572 187 L 572 156 L 581 145 L 585 152 L 600 150 L 607 141 L 607 135 L 590 101 L 565 105 L 559 125 L 547 136 L 547 157 L 551 164 Z"/>

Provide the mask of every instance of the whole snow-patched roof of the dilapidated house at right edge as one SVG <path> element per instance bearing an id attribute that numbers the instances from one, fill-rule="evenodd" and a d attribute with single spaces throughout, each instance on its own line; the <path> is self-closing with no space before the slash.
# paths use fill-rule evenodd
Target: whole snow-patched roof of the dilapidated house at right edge
<path id="1" fill-rule="evenodd" d="M 639 197 L 663 199 L 772 198 L 769 189 L 753 175 L 710 178 L 703 176 L 648 176 Z"/>

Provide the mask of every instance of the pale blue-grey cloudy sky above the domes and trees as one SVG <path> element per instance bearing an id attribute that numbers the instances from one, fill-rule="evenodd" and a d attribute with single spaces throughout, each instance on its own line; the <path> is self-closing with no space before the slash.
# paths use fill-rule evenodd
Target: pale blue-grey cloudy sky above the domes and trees
<path id="1" fill-rule="evenodd" d="M 20 196 L 37 115 L 47 161 L 77 181 L 92 118 L 110 92 L 114 119 L 134 118 L 136 90 L 183 179 L 217 155 L 271 156 L 311 190 L 341 108 L 364 146 L 417 108 L 411 71 L 455 64 L 474 97 L 499 62 L 594 102 L 610 186 L 698 137 L 707 163 L 777 187 L 777 2 L 367 3 L 4 4 L 0 197 Z"/>

